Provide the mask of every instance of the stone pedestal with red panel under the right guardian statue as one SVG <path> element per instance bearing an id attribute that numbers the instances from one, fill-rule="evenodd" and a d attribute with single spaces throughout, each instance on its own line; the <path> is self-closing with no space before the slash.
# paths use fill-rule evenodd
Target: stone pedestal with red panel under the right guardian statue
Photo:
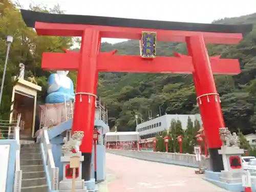
<path id="1" fill-rule="evenodd" d="M 222 155 L 224 170 L 221 171 L 220 181 L 226 183 L 241 183 L 242 175 L 245 174 L 242 163 L 244 150 L 238 146 L 221 146 L 218 150 Z"/>

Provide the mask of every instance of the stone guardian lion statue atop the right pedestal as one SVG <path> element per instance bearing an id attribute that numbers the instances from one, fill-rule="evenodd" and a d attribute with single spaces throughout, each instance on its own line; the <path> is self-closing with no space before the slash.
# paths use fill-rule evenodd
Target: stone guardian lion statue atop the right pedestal
<path id="1" fill-rule="evenodd" d="M 239 137 L 236 133 L 231 134 L 227 127 L 219 129 L 221 141 L 226 146 L 240 146 Z"/>

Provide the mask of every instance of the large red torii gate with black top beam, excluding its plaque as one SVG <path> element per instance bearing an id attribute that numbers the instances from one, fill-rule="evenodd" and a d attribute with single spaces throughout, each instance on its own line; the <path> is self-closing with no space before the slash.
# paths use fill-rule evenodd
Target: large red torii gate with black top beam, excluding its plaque
<path id="1" fill-rule="evenodd" d="M 84 156 L 84 180 L 90 179 L 98 72 L 193 74 L 211 168 L 214 171 L 223 169 L 218 149 L 222 144 L 219 128 L 225 127 L 225 124 L 213 74 L 238 74 L 240 65 L 236 59 L 208 57 L 205 43 L 238 44 L 243 34 L 251 31 L 252 25 L 189 24 L 28 10 L 22 10 L 22 15 L 27 26 L 35 28 L 38 35 L 82 38 L 80 52 L 44 53 L 42 68 L 78 71 L 72 131 L 84 131 L 80 146 Z M 100 53 L 102 37 L 140 39 L 143 31 L 156 32 L 159 41 L 186 42 L 189 56 L 176 53 L 176 57 L 144 59 L 115 55 L 116 51 Z"/>

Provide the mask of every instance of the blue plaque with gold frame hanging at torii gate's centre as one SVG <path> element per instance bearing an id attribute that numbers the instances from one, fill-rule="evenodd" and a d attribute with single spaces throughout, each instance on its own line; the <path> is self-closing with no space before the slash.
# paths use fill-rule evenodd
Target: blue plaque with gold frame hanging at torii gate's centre
<path id="1" fill-rule="evenodd" d="M 142 32 L 140 39 L 140 56 L 142 58 L 156 57 L 156 32 Z"/>

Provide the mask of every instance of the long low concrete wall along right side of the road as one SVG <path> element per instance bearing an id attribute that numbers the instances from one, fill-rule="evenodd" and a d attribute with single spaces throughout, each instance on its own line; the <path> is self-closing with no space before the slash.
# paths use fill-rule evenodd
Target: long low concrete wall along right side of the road
<path id="1" fill-rule="evenodd" d="M 131 151 L 131 150 L 106 150 L 107 153 L 122 155 L 125 157 L 132 157 L 136 159 L 155 161 L 160 163 L 168 163 L 189 167 L 198 167 L 196 155 L 193 154 L 179 154 L 179 153 L 162 153 L 150 151 Z M 202 156 L 202 167 L 208 167 L 208 158 Z"/>

